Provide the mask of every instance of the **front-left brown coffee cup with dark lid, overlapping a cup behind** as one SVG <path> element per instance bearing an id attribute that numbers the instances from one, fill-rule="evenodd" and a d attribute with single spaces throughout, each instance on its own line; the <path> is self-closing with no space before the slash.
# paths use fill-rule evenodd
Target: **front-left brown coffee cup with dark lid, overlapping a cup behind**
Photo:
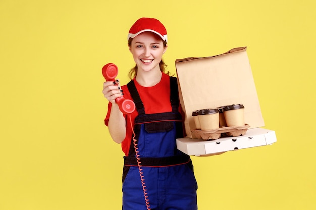
<path id="1" fill-rule="evenodd" d="M 201 130 L 213 130 L 219 128 L 219 110 L 218 109 L 201 109 L 198 112 Z"/>

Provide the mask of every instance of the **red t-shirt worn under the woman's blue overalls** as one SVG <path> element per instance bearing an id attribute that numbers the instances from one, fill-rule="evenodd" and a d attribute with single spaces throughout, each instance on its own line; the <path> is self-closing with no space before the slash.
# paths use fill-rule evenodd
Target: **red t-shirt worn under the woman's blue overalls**
<path id="1" fill-rule="evenodd" d="M 144 104 L 145 113 L 146 114 L 154 114 L 154 113 L 163 113 L 163 112 L 170 112 L 172 111 L 171 104 L 170 104 L 170 80 L 169 75 L 163 73 L 161 81 L 152 87 L 143 87 L 137 83 L 135 79 L 134 83 L 139 93 L 139 96 Z M 124 98 L 132 99 L 130 92 L 126 85 L 121 86 Z M 105 124 L 108 126 L 109 117 L 111 112 L 112 103 L 109 102 L 108 104 L 108 113 L 105 119 Z M 122 142 L 122 150 L 125 155 L 128 155 L 129 148 L 131 145 L 131 138 L 133 135 L 133 127 L 134 127 L 134 120 L 135 117 L 138 115 L 137 110 L 135 110 L 130 116 L 128 117 L 125 115 L 126 119 L 126 136 L 124 141 Z M 132 124 L 132 125 L 131 125 Z M 119 129 L 119 128 L 118 128 Z"/>

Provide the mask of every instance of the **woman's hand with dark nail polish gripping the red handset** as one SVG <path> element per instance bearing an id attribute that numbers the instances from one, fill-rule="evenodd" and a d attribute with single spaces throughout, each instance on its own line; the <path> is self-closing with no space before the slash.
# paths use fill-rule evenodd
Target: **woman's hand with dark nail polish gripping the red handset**
<path id="1" fill-rule="evenodd" d="M 120 86 L 120 81 L 115 80 L 113 81 L 106 81 L 103 83 L 103 95 L 106 99 L 111 102 L 112 104 L 116 104 L 115 99 L 121 97 L 123 95 L 122 89 Z"/>

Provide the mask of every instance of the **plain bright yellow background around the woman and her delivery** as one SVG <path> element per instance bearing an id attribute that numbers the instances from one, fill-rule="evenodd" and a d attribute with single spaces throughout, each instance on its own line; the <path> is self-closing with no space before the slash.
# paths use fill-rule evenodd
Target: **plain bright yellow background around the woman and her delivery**
<path id="1" fill-rule="evenodd" d="M 128 81 L 126 37 L 140 17 L 166 26 L 173 73 L 177 58 L 247 46 L 265 128 L 276 131 L 271 146 L 192 157 L 199 209 L 315 209 L 315 8 L 1 0 L 0 209 L 121 209 L 123 153 L 103 125 L 101 68 L 116 63 Z"/>

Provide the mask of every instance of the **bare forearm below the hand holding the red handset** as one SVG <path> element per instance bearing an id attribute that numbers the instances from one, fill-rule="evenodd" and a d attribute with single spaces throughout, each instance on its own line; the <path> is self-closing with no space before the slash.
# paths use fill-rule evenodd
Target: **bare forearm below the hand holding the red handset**
<path id="1" fill-rule="evenodd" d="M 126 136 L 126 120 L 117 104 L 112 104 L 108 127 L 113 141 L 123 142 Z"/>

